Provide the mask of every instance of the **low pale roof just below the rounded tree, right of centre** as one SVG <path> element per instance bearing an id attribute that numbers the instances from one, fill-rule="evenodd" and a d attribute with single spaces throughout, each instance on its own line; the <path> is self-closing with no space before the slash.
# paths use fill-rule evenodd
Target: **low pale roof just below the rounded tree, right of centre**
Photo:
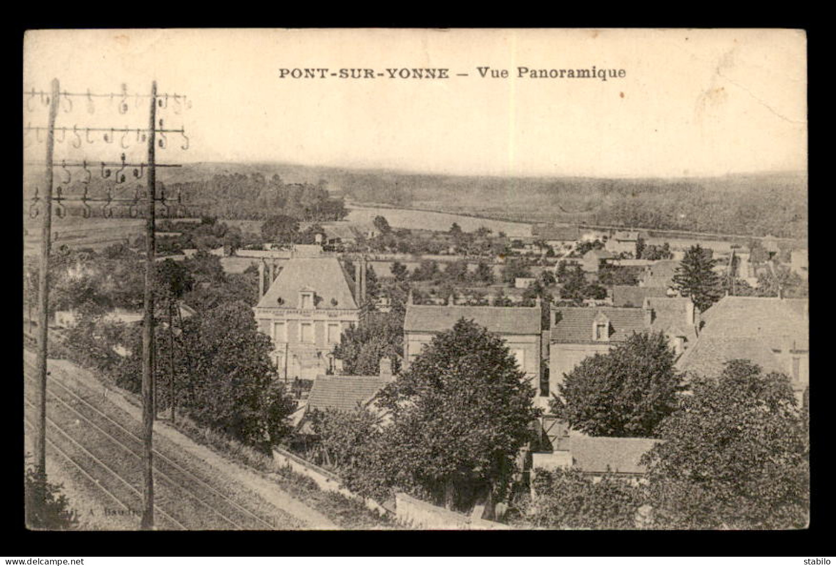
<path id="1" fill-rule="evenodd" d="M 641 457 L 657 443 L 656 438 L 570 436 L 572 467 L 586 473 L 645 473 Z"/>

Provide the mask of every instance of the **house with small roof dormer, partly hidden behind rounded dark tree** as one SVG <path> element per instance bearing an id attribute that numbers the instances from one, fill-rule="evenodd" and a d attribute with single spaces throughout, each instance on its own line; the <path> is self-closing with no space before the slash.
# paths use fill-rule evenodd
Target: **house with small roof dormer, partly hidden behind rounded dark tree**
<path id="1" fill-rule="evenodd" d="M 662 332 L 677 356 L 696 344 L 700 316 L 686 297 L 645 297 L 641 307 L 553 307 L 549 389 L 559 395 L 563 376 L 581 361 L 620 346 L 634 333 Z"/>

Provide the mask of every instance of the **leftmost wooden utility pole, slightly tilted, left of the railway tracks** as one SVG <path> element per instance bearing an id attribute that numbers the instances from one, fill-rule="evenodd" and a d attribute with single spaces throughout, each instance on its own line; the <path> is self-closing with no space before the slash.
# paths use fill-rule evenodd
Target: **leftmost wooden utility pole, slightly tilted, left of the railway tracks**
<path id="1" fill-rule="evenodd" d="M 55 116 L 58 114 L 59 82 L 52 81 L 47 127 L 47 162 L 43 191 L 43 224 L 41 225 L 41 262 L 38 279 L 38 376 L 40 378 L 40 414 L 38 415 L 38 472 L 47 473 L 47 338 L 49 325 L 49 247 L 52 240 L 52 184 L 53 150 L 55 145 Z"/>

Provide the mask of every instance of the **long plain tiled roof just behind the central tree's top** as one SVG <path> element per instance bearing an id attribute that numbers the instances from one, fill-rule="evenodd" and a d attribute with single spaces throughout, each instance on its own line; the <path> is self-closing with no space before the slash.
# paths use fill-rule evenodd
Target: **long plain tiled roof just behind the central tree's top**
<path id="1" fill-rule="evenodd" d="M 536 306 L 407 305 L 404 331 L 448 331 L 464 318 L 497 334 L 539 334 L 540 317 Z"/>

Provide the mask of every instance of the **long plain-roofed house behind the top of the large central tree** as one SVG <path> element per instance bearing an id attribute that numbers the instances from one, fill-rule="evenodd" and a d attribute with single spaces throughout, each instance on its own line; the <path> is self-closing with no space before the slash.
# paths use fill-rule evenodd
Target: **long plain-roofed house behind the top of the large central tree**
<path id="1" fill-rule="evenodd" d="M 497 334 L 505 342 L 525 378 L 548 402 L 539 387 L 542 368 L 542 308 L 536 306 L 460 306 L 415 305 L 410 294 L 404 318 L 405 365 L 415 360 L 421 350 L 439 332 L 449 331 L 462 318 Z M 540 401 L 543 402 L 543 401 Z"/>

